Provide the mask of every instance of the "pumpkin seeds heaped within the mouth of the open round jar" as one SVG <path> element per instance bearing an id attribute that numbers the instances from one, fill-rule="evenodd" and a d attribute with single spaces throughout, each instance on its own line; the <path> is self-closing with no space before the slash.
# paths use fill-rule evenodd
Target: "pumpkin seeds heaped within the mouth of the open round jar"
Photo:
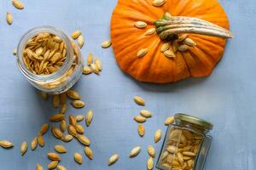
<path id="1" fill-rule="evenodd" d="M 44 32 L 26 42 L 23 61 L 36 75 L 49 75 L 58 71 L 67 58 L 67 45 L 61 37 Z"/>

